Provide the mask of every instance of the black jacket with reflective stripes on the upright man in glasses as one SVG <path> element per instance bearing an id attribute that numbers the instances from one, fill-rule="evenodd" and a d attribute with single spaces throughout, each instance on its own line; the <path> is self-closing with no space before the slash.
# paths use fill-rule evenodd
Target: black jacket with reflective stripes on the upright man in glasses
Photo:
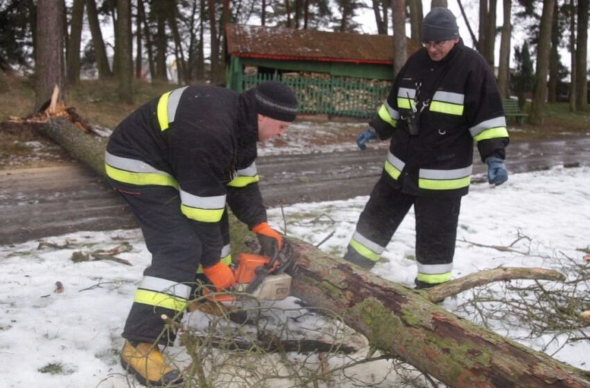
<path id="1" fill-rule="evenodd" d="M 411 134 L 410 121 L 417 133 Z M 462 41 L 439 62 L 425 48 L 414 53 L 370 125 L 380 139 L 391 138 L 384 173 L 411 195 L 465 195 L 473 141 L 482 161 L 505 159 L 509 142 L 494 74 Z"/>

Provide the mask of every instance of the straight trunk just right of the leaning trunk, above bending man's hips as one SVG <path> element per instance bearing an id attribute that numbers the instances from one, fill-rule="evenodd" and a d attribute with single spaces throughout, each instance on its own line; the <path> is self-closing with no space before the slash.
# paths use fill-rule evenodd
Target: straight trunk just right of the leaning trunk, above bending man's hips
<path id="1" fill-rule="evenodd" d="M 117 60 L 119 60 L 119 100 L 133 103 L 133 54 L 131 47 L 131 1 L 117 0 Z"/>

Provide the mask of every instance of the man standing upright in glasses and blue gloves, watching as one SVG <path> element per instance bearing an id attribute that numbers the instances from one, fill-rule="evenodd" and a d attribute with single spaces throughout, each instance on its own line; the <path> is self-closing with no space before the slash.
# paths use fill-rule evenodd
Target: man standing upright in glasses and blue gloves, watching
<path id="1" fill-rule="evenodd" d="M 371 127 L 357 136 L 391 138 L 383 173 L 371 192 L 344 258 L 373 267 L 403 218 L 416 215 L 416 288 L 450 280 L 462 195 L 469 190 L 473 141 L 490 184 L 508 179 L 508 132 L 494 74 L 464 46 L 453 12 L 432 8 L 422 22 L 423 48 L 397 75 Z"/>

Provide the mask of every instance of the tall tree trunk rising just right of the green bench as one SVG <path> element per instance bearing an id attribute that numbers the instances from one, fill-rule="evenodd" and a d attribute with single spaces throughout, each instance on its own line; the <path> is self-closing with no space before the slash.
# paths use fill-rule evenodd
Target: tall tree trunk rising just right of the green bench
<path id="1" fill-rule="evenodd" d="M 543 0 L 543 14 L 541 15 L 541 26 L 539 28 L 539 44 L 537 45 L 537 71 L 532 94 L 532 105 L 528 116 L 529 122 L 533 125 L 543 124 L 544 119 L 554 3 L 555 0 Z"/>

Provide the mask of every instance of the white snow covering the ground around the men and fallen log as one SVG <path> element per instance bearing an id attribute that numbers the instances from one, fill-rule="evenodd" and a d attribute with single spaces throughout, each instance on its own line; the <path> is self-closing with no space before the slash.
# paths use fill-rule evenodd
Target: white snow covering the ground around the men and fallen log
<path id="1" fill-rule="evenodd" d="M 358 124 L 352 130 L 362 130 L 363 126 Z M 355 147 L 353 142 L 345 146 Z M 271 154 L 271 147 L 261 154 L 264 152 Z M 277 229 L 283 229 L 286 223 L 288 236 L 314 244 L 333 231 L 321 249 L 342 254 L 366 200 L 367 197 L 356 197 L 270 209 L 269 222 Z M 588 167 L 515 174 L 498 188 L 473 184 L 471 193 L 462 202 L 454 276 L 498 266 L 564 270 L 570 260 L 584 265 L 587 253 L 580 249 L 590 247 L 589 225 Z M 525 238 L 519 238 L 522 236 Z M 512 251 L 491 246 L 511 246 Z M 108 253 L 115 247 L 126 251 L 116 256 L 132 265 L 108 260 L 72 261 L 75 252 L 84 256 L 99 249 Z M 373 273 L 412 285 L 416 275 L 412 212 L 383 256 Z M 135 229 L 80 231 L 0 246 L 0 386 L 137 386 L 119 366 L 118 352 L 123 344 L 120 333 L 135 287 L 148 264 L 149 252 L 140 231 Z M 568 276 L 571 278 L 575 274 Z M 58 282 L 62 285 L 61 292 L 58 292 Z M 494 287 L 502 292 L 502 285 Z M 469 297 L 471 293 L 464 292 L 448 298 L 443 306 L 455 311 Z M 294 308 L 296 304 L 289 298 L 278 306 Z M 185 321 L 199 324 L 198 314 L 187 314 Z M 467 318 L 477 321 L 475 315 L 468 314 Z M 311 316 L 300 325 L 301 330 L 311 334 L 319 330 L 318 326 L 326 326 L 326 322 Z M 523 338 L 526 333 L 522 330 L 501 323 L 496 330 L 534 349 L 544 349 L 575 367 L 589 369 L 590 342 L 587 339 L 563 346 L 568 333 L 552 341 L 551 336 Z M 590 330 L 586 330 L 585 335 L 588 338 Z M 182 358 L 183 348 L 174 347 L 171 351 Z M 364 356 L 363 352 L 366 349 L 360 352 L 360 357 Z M 317 362 L 301 355 L 291 355 L 291 358 L 300 366 L 305 362 Z M 266 361 L 271 362 L 269 359 L 257 362 L 262 366 Z M 396 386 L 396 376 L 387 374 L 388 367 L 389 362 L 373 362 L 362 364 L 353 369 L 353 373 L 367 386 Z M 289 384 L 275 381 L 269 382 L 269 386 L 288 387 Z M 342 382 L 336 386 L 352 385 Z"/>

